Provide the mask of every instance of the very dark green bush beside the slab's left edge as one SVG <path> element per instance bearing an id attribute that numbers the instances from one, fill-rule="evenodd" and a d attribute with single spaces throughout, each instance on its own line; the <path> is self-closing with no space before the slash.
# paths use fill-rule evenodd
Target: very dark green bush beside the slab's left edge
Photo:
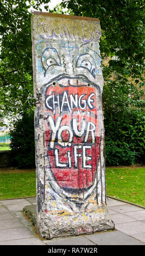
<path id="1" fill-rule="evenodd" d="M 34 113 L 23 114 L 10 131 L 13 165 L 18 168 L 35 167 Z"/>

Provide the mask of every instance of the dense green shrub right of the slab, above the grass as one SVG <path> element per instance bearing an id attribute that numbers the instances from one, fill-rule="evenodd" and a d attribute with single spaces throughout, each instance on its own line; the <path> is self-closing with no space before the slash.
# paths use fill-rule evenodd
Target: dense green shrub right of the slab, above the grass
<path id="1" fill-rule="evenodd" d="M 105 119 L 106 166 L 144 163 L 144 117 L 130 109 Z"/>

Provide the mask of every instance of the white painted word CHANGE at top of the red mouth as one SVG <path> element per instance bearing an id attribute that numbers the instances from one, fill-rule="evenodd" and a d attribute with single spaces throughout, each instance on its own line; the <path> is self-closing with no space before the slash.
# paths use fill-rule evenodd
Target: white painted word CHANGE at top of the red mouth
<path id="1" fill-rule="evenodd" d="M 95 108 L 95 106 L 92 105 L 94 102 L 92 97 L 94 95 L 95 93 L 91 93 L 87 99 L 85 99 L 86 94 L 81 94 L 80 96 L 78 96 L 78 94 L 70 94 L 70 97 L 68 97 L 67 91 L 65 91 L 62 94 L 46 96 L 45 106 L 51 111 L 55 110 L 57 107 L 59 113 L 65 110 L 71 113 L 73 108 L 78 109 L 78 107 L 80 109 L 86 109 L 88 106 L 90 109 L 93 109 Z"/>

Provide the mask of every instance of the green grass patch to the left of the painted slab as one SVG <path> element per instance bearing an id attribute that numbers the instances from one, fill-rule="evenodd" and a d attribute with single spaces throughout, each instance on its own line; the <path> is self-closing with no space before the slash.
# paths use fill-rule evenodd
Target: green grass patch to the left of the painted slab
<path id="1" fill-rule="evenodd" d="M 36 196 L 35 172 L 1 173 L 0 199 Z"/>

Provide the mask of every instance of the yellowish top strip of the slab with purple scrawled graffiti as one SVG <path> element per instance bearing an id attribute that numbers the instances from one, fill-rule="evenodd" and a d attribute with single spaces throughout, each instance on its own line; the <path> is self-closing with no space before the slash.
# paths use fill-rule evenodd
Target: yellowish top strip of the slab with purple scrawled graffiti
<path id="1" fill-rule="evenodd" d="M 101 36 L 99 20 L 95 18 L 34 11 L 33 22 L 35 23 L 34 40 L 81 38 L 84 42 L 89 42 L 97 41 Z"/>

